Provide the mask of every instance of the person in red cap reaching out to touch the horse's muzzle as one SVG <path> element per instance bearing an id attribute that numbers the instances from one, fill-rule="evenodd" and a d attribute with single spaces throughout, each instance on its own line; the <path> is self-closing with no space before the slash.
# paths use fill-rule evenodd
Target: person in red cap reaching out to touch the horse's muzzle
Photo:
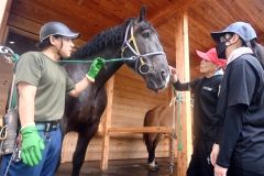
<path id="1" fill-rule="evenodd" d="M 187 176 L 213 176 L 213 166 L 210 163 L 210 153 L 218 140 L 213 119 L 218 103 L 219 85 L 222 80 L 226 66 L 224 59 L 219 59 L 216 48 L 204 53 L 196 51 L 200 61 L 200 73 L 205 76 L 190 82 L 182 84 L 177 79 L 176 69 L 169 67 L 170 79 L 176 90 L 191 90 L 194 92 L 194 152 L 187 169 Z"/>

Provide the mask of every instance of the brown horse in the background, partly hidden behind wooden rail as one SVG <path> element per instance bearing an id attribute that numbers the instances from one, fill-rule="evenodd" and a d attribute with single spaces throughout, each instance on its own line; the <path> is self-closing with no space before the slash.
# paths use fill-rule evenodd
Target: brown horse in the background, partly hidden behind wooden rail
<path id="1" fill-rule="evenodd" d="M 172 127 L 173 124 L 173 106 L 160 105 L 145 113 L 143 127 Z M 143 133 L 143 141 L 148 153 L 150 170 L 157 170 L 158 165 L 155 160 L 155 150 L 162 139 L 161 133 Z"/>

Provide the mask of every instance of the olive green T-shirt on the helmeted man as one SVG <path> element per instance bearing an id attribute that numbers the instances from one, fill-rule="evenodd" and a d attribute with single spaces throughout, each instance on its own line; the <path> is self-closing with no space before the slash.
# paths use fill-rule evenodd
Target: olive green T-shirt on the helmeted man
<path id="1" fill-rule="evenodd" d="M 35 122 L 62 119 L 66 92 L 75 82 L 66 70 L 41 52 L 21 55 L 15 67 L 15 84 L 28 82 L 36 87 Z"/>

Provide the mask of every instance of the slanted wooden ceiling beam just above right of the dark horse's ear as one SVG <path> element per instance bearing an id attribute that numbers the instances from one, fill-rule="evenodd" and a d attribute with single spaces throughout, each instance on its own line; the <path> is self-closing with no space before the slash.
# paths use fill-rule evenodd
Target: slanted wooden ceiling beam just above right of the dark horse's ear
<path id="1" fill-rule="evenodd" d="M 176 15 L 179 10 L 187 9 L 190 4 L 194 6 L 201 0 L 178 0 L 167 6 L 166 8 L 161 9 L 155 15 L 150 16 L 150 21 L 155 25 L 160 26 L 164 22 L 167 22 L 166 19 L 170 19 L 173 15 Z"/>

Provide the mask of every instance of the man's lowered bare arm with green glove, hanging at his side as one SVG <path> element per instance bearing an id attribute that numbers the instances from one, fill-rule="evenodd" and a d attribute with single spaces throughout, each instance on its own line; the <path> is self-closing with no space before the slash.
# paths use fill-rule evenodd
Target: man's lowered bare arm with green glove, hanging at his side
<path id="1" fill-rule="evenodd" d="M 34 122 L 36 87 L 26 82 L 19 82 L 18 89 L 20 94 L 19 114 L 22 127 L 20 130 L 22 134 L 21 157 L 24 164 L 34 166 L 42 160 L 41 151 L 45 148 Z"/>

